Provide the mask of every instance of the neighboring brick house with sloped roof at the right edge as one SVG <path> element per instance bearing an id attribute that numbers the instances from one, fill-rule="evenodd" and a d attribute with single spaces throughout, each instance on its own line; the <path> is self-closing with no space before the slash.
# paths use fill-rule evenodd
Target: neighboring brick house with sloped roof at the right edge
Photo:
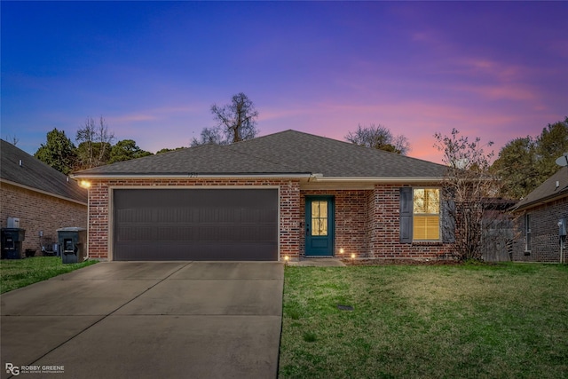
<path id="1" fill-rule="evenodd" d="M 517 203 L 513 260 L 560 262 L 560 219 L 568 222 L 568 167 L 563 167 Z M 565 259 L 568 261 L 568 259 Z"/>

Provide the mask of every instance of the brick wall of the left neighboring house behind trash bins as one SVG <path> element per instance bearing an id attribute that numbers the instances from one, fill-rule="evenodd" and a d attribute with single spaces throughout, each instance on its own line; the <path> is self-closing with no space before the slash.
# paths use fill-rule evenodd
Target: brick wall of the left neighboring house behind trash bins
<path id="1" fill-rule="evenodd" d="M 42 244 L 57 243 L 57 229 L 67 226 L 87 227 L 86 205 L 19 186 L 2 183 L 0 203 L 0 225 L 7 227 L 8 217 L 18 217 L 20 228 L 26 229 L 22 253 L 26 249 L 32 249 L 36 250 L 36 256 L 40 256 Z M 43 231 L 41 239 L 40 231 Z"/>

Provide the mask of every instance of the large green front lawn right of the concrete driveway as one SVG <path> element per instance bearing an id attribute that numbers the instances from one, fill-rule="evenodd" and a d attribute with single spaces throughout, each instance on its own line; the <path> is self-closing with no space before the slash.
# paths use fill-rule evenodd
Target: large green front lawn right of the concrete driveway
<path id="1" fill-rule="evenodd" d="M 568 266 L 288 266 L 279 375 L 568 378 Z"/>

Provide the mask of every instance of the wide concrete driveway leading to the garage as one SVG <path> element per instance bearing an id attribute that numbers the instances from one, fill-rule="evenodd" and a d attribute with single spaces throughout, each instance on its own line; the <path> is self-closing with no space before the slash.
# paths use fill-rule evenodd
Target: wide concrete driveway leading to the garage
<path id="1" fill-rule="evenodd" d="M 276 377 L 283 278 L 276 262 L 108 262 L 8 292 L 2 377 Z"/>

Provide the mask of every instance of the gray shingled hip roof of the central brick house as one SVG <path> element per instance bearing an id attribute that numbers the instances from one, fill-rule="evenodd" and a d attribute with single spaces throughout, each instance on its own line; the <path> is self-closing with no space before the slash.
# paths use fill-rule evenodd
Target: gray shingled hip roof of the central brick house
<path id="1" fill-rule="evenodd" d="M 160 175 L 321 175 L 442 178 L 446 166 L 296 130 L 229 146 L 190 147 L 75 173 L 78 178 Z"/>

